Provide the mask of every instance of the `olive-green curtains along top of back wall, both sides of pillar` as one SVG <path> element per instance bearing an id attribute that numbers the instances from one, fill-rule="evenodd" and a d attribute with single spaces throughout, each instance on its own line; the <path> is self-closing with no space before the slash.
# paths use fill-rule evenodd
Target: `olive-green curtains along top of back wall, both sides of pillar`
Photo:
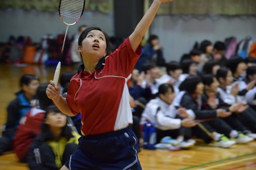
<path id="1" fill-rule="evenodd" d="M 113 11 L 114 0 L 86 0 L 85 11 Z M 127 0 L 129 1 L 129 0 Z M 0 9 L 57 11 L 59 0 L 1 0 Z M 174 0 L 163 3 L 158 15 L 256 15 L 256 0 Z"/>

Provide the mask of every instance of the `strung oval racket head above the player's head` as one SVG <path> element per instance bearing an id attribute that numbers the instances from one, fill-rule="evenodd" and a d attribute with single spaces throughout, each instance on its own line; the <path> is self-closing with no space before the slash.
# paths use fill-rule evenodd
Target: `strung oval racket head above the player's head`
<path id="1" fill-rule="evenodd" d="M 60 0 L 59 16 L 65 25 L 74 25 L 84 14 L 85 0 Z"/>

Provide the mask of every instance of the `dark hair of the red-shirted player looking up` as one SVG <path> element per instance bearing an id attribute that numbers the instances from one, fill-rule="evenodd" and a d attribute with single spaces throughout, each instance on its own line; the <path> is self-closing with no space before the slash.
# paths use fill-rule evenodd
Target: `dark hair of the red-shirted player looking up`
<path id="1" fill-rule="evenodd" d="M 86 36 L 88 35 L 88 33 L 92 30 L 98 30 L 98 31 L 101 31 L 104 36 L 105 36 L 105 39 L 106 39 L 106 52 L 107 52 L 107 56 L 109 55 L 110 53 L 110 42 L 109 42 L 109 35 L 102 31 L 101 28 L 98 28 L 98 27 L 88 27 L 86 28 L 84 31 L 82 31 L 81 35 L 79 36 L 79 41 L 78 41 L 78 45 L 82 45 L 82 40 L 84 40 L 86 38 Z"/>

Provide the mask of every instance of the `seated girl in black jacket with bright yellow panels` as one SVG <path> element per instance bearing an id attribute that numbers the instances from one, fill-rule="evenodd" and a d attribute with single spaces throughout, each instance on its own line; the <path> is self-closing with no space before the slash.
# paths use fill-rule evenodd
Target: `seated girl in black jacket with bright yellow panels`
<path id="1" fill-rule="evenodd" d="M 47 108 L 42 133 L 35 138 L 28 154 L 30 169 L 60 169 L 78 147 L 80 135 L 67 124 L 67 116 L 55 106 Z"/>

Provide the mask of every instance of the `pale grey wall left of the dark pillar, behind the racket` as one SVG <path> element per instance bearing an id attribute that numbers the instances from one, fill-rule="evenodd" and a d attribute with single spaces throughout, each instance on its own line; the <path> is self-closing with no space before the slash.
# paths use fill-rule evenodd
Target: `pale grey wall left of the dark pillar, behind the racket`
<path id="1" fill-rule="evenodd" d="M 79 23 L 68 28 L 68 35 L 77 32 L 79 25 L 96 25 L 114 35 L 113 14 L 85 12 Z M 6 10 L 0 11 L 0 42 L 7 42 L 10 35 L 30 36 L 33 42 L 40 42 L 43 35 L 56 36 L 65 33 L 66 25 L 59 18 L 59 12 Z"/>

